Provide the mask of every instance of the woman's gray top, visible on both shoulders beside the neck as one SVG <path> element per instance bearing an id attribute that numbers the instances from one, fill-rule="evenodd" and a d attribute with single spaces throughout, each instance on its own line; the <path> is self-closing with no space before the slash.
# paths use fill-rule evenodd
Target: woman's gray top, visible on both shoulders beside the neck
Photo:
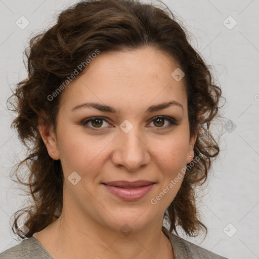
<path id="1" fill-rule="evenodd" d="M 212 253 L 185 239 L 168 233 L 175 259 L 228 259 Z M 166 233 L 165 233 L 166 234 Z M 20 244 L 0 253 L 0 259 L 54 259 L 41 243 L 33 236 L 23 240 Z"/>

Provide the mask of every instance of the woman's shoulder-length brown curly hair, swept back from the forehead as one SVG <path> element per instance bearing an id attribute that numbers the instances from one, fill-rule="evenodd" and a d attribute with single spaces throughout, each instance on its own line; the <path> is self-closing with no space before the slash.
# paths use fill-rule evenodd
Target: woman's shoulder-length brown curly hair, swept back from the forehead
<path id="1" fill-rule="evenodd" d="M 81 1 L 62 11 L 54 26 L 30 39 L 24 52 L 28 77 L 16 85 L 10 97 L 14 97 L 15 102 L 8 99 L 12 110 L 18 113 L 11 126 L 16 128 L 28 152 L 27 157 L 16 165 L 14 172 L 18 181 L 13 180 L 28 187 L 27 192 L 32 197 L 31 205 L 12 215 L 12 231 L 22 239 L 45 229 L 62 212 L 64 178 L 61 162 L 49 156 L 38 128 L 42 119 L 53 125 L 56 133 L 62 93 L 52 101 L 48 96 L 96 50 L 119 52 L 142 47 L 152 47 L 169 55 L 184 71 L 190 136 L 198 129 L 194 159 L 199 156 L 200 160 L 187 167 L 181 188 L 165 211 L 164 219 L 169 223 L 169 231 L 177 235 L 177 226 L 189 236 L 197 236 L 201 230 L 207 234 L 196 208 L 195 191 L 205 183 L 212 158 L 219 154 L 219 146 L 208 126 L 215 116 L 219 116 L 222 91 L 212 82 L 210 68 L 189 44 L 187 30 L 164 6 L 166 8 L 133 0 Z M 17 174 L 22 171 L 25 176 L 21 165 L 29 169 L 24 182 Z M 23 224 L 29 230 L 26 234 L 21 232 L 18 223 L 25 213 Z"/>

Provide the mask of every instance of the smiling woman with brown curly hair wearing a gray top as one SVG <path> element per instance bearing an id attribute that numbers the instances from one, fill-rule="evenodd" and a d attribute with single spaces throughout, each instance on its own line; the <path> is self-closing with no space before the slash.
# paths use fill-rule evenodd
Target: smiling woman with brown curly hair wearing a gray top
<path id="1" fill-rule="evenodd" d="M 13 126 L 34 202 L 0 258 L 224 258 L 177 231 L 207 233 L 195 188 L 221 89 L 167 11 L 82 1 L 32 38 Z"/>

